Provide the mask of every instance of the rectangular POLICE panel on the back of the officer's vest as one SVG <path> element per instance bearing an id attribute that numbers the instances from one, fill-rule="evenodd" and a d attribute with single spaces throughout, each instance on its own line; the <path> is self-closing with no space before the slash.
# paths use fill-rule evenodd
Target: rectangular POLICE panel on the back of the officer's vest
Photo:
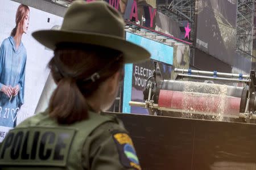
<path id="1" fill-rule="evenodd" d="M 0 167 L 66 167 L 75 129 L 16 128 L 9 132 L 0 150 Z"/>

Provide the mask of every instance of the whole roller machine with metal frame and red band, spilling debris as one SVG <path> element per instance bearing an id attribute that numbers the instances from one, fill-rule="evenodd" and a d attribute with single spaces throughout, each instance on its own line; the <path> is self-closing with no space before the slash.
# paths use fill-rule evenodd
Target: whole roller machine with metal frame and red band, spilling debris
<path id="1" fill-rule="evenodd" d="M 177 75 L 179 80 L 156 82 L 156 76 L 148 78 L 147 86 L 143 91 L 144 103 L 131 101 L 130 105 L 147 108 L 150 114 L 155 112 L 158 114 L 159 110 L 222 117 L 243 117 L 246 120 L 256 118 L 255 71 L 251 71 L 250 75 L 217 73 L 217 71 L 212 73 L 190 69 L 175 69 L 175 71 L 180 73 Z M 244 86 L 187 82 L 182 80 L 186 76 L 240 82 L 244 83 Z"/>

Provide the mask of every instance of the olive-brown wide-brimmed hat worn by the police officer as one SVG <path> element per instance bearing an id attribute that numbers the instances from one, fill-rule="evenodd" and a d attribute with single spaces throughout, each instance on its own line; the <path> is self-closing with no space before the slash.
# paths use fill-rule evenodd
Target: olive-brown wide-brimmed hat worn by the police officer
<path id="1" fill-rule="evenodd" d="M 125 63 L 150 58 L 141 46 L 125 40 L 125 22 L 115 8 L 103 1 L 75 1 L 68 8 L 60 30 L 41 30 L 32 36 L 54 50 L 61 42 L 100 45 L 119 50 Z"/>

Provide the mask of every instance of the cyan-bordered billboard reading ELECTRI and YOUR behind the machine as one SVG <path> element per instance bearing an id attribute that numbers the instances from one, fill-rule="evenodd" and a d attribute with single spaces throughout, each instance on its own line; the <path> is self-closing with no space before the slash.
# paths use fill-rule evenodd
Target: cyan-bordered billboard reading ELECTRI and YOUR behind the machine
<path id="1" fill-rule="evenodd" d="M 159 63 L 163 79 L 171 79 L 174 48 L 160 42 L 126 32 L 126 40 L 141 45 L 151 53 L 145 62 L 125 65 L 123 85 L 123 113 L 148 114 L 146 109 L 130 107 L 129 101 L 143 101 L 143 89 L 154 70 L 154 61 Z"/>

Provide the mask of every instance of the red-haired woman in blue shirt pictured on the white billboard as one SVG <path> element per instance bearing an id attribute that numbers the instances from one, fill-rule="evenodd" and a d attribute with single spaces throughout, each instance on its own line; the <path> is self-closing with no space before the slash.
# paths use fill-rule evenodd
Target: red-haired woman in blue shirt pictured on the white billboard
<path id="1" fill-rule="evenodd" d="M 13 128 L 16 114 L 24 103 L 24 80 L 27 52 L 22 43 L 27 33 L 30 9 L 20 5 L 15 28 L 0 48 L 0 126 Z"/>

